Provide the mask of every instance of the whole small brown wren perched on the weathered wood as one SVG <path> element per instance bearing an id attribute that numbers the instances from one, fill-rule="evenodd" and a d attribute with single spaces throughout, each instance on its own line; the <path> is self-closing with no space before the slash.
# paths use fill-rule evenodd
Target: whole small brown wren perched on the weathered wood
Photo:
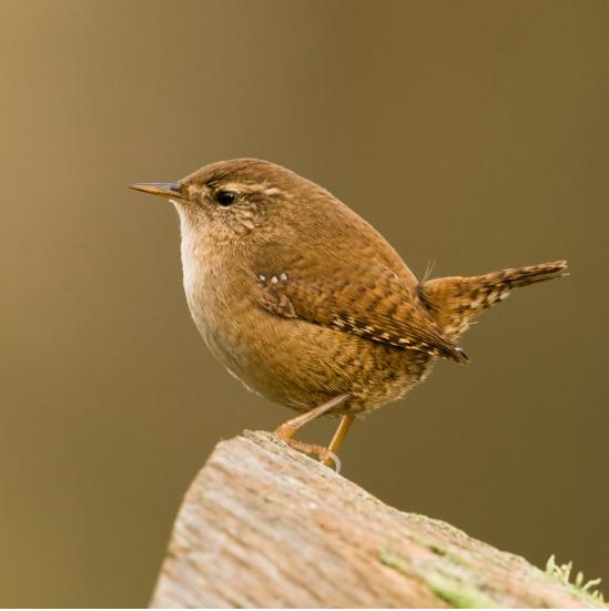
<path id="1" fill-rule="evenodd" d="M 355 416 L 403 397 L 438 357 L 467 363 L 456 340 L 474 317 L 567 268 L 419 282 L 355 212 L 266 161 L 132 189 L 177 210 L 186 299 L 210 350 L 245 386 L 300 411 L 275 432 L 325 464 L 338 465 Z M 322 414 L 343 417 L 329 448 L 294 439 Z"/>

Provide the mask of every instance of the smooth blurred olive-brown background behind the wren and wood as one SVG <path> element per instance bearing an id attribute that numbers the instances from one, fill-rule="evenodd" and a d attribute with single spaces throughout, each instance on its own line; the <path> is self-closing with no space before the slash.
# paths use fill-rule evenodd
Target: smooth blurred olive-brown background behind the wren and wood
<path id="1" fill-rule="evenodd" d="M 244 155 L 328 187 L 418 274 L 569 259 L 481 318 L 468 367 L 356 426 L 344 475 L 609 577 L 607 2 L 0 8 L 0 604 L 146 604 L 214 445 L 291 416 L 206 352 L 176 215 L 126 190 Z"/>

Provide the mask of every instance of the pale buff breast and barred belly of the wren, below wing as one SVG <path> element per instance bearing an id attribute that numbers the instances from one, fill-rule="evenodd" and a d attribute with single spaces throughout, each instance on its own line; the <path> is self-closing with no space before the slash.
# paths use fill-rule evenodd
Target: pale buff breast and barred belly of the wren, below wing
<path id="1" fill-rule="evenodd" d="M 298 410 L 349 393 L 348 408 L 366 411 L 399 397 L 427 370 L 423 353 L 270 313 L 256 301 L 255 274 L 236 255 L 210 251 L 182 242 L 189 308 L 211 353 L 245 386 Z"/>

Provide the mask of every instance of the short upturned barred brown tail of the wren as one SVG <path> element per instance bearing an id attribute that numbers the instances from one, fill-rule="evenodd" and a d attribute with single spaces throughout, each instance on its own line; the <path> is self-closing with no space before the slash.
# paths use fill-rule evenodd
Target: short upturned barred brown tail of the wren
<path id="1" fill-rule="evenodd" d="M 435 278 L 422 284 L 419 294 L 447 337 L 456 339 L 473 318 L 503 302 L 511 288 L 566 276 L 566 261 L 552 261 L 483 276 Z"/>

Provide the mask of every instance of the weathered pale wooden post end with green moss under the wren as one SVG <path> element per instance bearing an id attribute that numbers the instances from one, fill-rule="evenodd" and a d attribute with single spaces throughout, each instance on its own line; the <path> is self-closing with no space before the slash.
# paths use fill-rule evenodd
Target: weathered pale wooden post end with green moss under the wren
<path id="1" fill-rule="evenodd" d="M 522 558 L 387 507 L 266 432 L 219 444 L 152 607 L 600 607 Z"/>

